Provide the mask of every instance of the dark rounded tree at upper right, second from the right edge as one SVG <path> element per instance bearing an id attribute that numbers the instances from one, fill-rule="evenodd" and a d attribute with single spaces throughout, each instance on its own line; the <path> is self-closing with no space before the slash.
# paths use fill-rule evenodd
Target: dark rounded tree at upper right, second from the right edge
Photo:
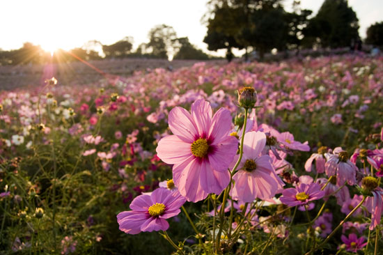
<path id="1" fill-rule="evenodd" d="M 310 20 L 307 40 L 322 47 L 348 47 L 359 39 L 357 14 L 347 0 L 325 0 L 318 14 Z"/>

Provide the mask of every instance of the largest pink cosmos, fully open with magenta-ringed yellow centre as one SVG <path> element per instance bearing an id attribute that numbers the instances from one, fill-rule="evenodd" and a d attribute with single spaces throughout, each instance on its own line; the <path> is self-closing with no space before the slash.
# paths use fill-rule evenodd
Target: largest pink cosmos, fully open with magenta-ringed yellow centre
<path id="1" fill-rule="evenodd" d="M 158 157 L 173 164 L 173 180 L 188 201 L 219 194 L 230 182 L 228 165 L 237 153 L 238 141 L 229 136 L 231 116 L 219 109 L 212 116 L 209 102 L 197 100 L 192 112 L 175 107 L 169 113 L 173 135 L 162 138 Z"/>

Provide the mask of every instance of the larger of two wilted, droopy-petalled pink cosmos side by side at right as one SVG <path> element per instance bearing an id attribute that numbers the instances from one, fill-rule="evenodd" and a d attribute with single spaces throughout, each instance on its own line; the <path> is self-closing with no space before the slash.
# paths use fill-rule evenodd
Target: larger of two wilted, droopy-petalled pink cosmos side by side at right
<path id="1" fill-rule="evenodd" d="M 349 160 L 348 153 L 341 147 L 334 149 L 334 154 L 327 154 L 329 157 L 325 164 L 327 176 L 336 175 L 336 184 L 341 186 L 345 182 L 349 185 L 357 183 L 355 176 L 358 168 Z"/>

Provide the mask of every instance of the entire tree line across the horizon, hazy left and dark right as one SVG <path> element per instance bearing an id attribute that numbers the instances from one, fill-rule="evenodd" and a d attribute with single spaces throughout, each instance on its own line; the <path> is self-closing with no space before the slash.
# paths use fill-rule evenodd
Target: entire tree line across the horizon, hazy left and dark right
<path id="1" fill-rule="evenodd" d="M 292 11 L 285 10 L 283 0 L 210 0 L 202 21 L 208 28 L 203 42 L 210 51 L 226 49 L 226 59 L 233 59 L 233 49 L 256 52 L 260 59 L 272 49 L 278 51 L 315 48 L 357 48 L 361 44 L 357 14 L 347 0 L 325 0 L 318 13 L 300 8 L 294 1 Z M 365 42 L 383 46 L 383 22 L 372 24 Z M 171 26 L 161 24 L 150 29 L 149 42 L 133 50 L 133 38 L 126 36 L 111 45 L 91 40 L 69 51 L 58 49 L 50 56 L 39 45 L 25 42 L 20 49 L 0 50 L 0 65 L 68 62 L 83 59 L 212 59 L 189 42 L 179 38 Z M 100 55 L 101 53 L 101 55 Z"/>

